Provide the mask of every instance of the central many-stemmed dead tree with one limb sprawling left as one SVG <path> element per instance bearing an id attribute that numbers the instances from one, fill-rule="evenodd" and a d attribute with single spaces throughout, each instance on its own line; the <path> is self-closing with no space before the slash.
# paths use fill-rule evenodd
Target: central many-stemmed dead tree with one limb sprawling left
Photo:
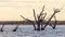
<path id="1" fill-rule="evenodd" d="M 40 30 L 40 29 L 41 29 L 40 25 L 41 25 L 41 22 L 42 22 L 41 17 L 42 17 L 42 15 L 44 15 L 44 13 L 43 13 L 43 11 L 44 11 L 44 5 L 43 5 L 42 11 L 40 12 L 40 14 L 37 14 L 37 16 L 36 16 L 36 13 L 35 13 L 35 9 L 32 9 L 32 11 L 34 11 L 34 17 L 35 17 L 35 22 L 36 22 L 37 28 L 36 28 L 36 26 L 35 26 L 35 23 L 34 23 L 31 20 L 25 18 L 25 17 L 22 16 L 22 15 L 21 15 L 21 17 L 23 17 L 24 20 L 30 22 L 30 23 L 34 25 L 34 27 L 35 27 L 36 30 Z M 44 17 L 46 17 L 46 16 L 43 16 L 43 18 L 44 18 Z"/>

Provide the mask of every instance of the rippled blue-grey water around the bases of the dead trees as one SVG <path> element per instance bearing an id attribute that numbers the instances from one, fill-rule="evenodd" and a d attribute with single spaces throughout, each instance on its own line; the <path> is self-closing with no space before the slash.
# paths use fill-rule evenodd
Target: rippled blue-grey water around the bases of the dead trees
<path id="1" fill-rule="evenodd" d="M 65 25 L 57 25 L 55 29 L 47 26 L 44 30 L 34 30 L 32 25 L 20 25 L 16 32 L 12 32 L 16 25 L 5 25 L 0 37 L 65 37 Z M 1 26 L 0 26 L 1 27 Z"/>

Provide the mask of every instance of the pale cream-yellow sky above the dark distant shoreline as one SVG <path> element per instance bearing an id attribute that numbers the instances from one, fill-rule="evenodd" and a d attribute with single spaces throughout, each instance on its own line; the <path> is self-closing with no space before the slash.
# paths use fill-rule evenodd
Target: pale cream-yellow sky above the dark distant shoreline
<path id="1" fill-rule="evenodd" d="M 32 9 L 38 14 L 46 5 L 48 17 L 53 13 L 53 8 L 63 10 L 56 14 L 58 21 L 65 21 L 65 0 L 0 0 L 0 21 L 23 21 L 21 14 L 34 20 Z"/>

